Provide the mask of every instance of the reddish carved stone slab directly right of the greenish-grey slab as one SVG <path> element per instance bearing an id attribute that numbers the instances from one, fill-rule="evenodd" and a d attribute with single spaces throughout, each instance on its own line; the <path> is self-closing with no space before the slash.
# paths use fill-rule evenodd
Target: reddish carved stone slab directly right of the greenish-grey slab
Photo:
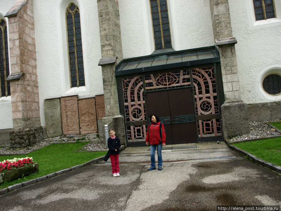
<path id="1" fill-rule="evenodd" d="M 78 96 L 61 98 L 62 132 L 64 135 L 80 134 L 78 116 Z"/>

